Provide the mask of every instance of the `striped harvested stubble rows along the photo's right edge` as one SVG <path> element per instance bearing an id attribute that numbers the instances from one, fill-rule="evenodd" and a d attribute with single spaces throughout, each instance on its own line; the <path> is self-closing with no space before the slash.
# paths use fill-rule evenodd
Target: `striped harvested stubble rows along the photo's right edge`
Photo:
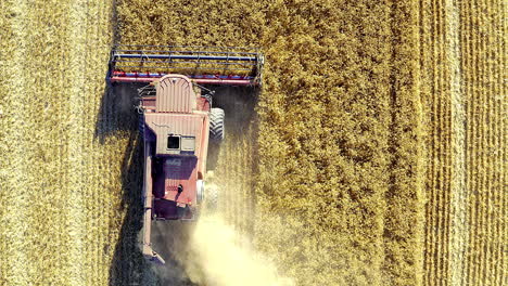
<path id="1" fill-rule="evenodd" d="M 423 1 L 426 285 L 506 281 L 506 3 Z"/>

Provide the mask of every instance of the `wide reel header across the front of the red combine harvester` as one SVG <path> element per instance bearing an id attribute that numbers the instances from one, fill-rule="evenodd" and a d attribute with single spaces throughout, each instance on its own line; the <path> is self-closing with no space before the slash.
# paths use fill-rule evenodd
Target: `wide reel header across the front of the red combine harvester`
<path id="1" fill-rule="evenodd" d="M 263 64 L 256 48 L 117 44 L 107 80 L 152 82 L 181 74 L 199 84 L 259 86 Z"/>

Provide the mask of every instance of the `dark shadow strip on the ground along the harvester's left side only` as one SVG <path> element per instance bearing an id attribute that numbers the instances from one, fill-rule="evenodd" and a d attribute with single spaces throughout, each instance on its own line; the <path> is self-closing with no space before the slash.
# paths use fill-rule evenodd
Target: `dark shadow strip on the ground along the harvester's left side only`
<path id="1" fill-rule="evenodd" d="M 126 214 L 110 266 L 109 285 L 147 285 L 145 282 L 154 276 L 137 242 L 142 218 L 142 143 L 138 138 L 134 94 L 136 88 L 131 84 L 106 86 L 96 122 L 96 138 L 100 143 L 106 144 L 113 136 L 128 139 L 122 158 L 122 202 L 119 209 L 113 210 Z M 113 222 L 111 227 L 116 227 L 116 223 Z"/>

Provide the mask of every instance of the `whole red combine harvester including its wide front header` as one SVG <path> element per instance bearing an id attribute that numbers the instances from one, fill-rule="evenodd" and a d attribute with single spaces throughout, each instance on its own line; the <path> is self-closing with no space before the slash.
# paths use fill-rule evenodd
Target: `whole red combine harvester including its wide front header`
<path id="1" fill-rule="evenodd" d="M 225 135 L 225 114 L 212 106 L 209 86 L 259 87 L 263 62 L 257 49 L 246 48 L 113 48 L 109 82 L 148 83 L 138 93 L 144 143 L 142 253 L 150 261 L 165 263 L 152 249 L 152 221 L 195 220 L 205 202 L 208 140 Z"/>

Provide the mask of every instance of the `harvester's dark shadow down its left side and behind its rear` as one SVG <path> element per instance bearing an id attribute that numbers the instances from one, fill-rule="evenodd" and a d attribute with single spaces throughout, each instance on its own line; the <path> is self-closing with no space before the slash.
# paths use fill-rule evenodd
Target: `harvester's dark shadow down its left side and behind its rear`
<path id="1" fill-rule="evenodd" d="M 154 227 L 154 248 L 161 247 L 166 265 L 149 263 L 142 257 L 139 235 L 142 227 L 142 174 L 143 143 L 139 135 L 139 115 L 137 109 L 137 89 L 144 84 L 109 84 L 105 88 L 96 123 L 96 138 L 101 144 L 110 144 L 109 140 L 127 139 L 122 161 L 122 200 L 114 211 L 125 212 L 110 268 L 109 285 L 194 285 L 187 277 L 183 266 L 178 260 L 178 253 L 172 247 L 172 242 L 179 242 L 178 251 L 185 249 L 181 237 L 189 236 L 188 227 L 178 231 L 163 226 L 164 232 Z M 164 222 L 163 222 L 164 223 Z M 157 222 L 157 226 L 161 224 Z M 170 224 L 168 224 L 170 225 Z M 115 225 L 112 229 L 117 227 Z M 158 235 L 158 236 L 157 236 Z M 167 243 L 169 242 L 169 243 Z"/>

